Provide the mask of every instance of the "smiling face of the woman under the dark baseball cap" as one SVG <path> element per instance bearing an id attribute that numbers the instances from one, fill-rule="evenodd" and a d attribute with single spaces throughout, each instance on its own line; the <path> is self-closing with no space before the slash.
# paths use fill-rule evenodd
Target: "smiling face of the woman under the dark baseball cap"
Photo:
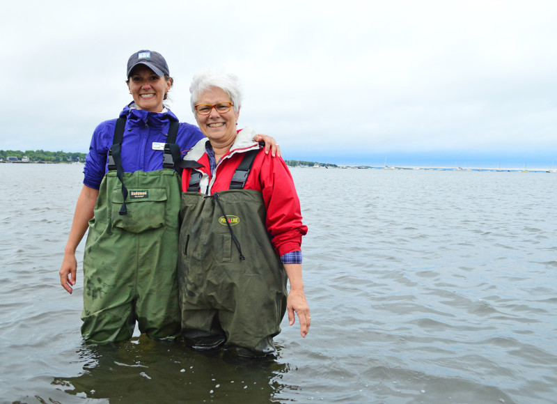
<path id="1" fill-rule="evenodd" d="M 127 80 L 127 86 L 139 109 L 150 112 L 162 111 L 162 100 L 171 88 L 172 79 L 155 75 L 146 65 L 137 65 Z"/>

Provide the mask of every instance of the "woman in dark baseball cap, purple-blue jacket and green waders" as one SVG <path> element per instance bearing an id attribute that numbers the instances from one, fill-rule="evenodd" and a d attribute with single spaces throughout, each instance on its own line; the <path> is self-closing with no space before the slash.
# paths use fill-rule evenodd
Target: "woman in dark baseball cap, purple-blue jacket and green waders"
<path id="1" fill-rule="evenodd" d="M 180 333 L 178 233 L 181 152 L 203 138 L 178 123 L 166 106 L 173 85 L 158 52 L 141 50 L 127 62 L 133 102 L 118 119 L 93 132 L 84 186 L 60 269 L 69 293 L 76 282 L 75 250 L 88 231 L 84 254 L 81 334 L 91 342 L 125 341 L 139 330 L 151 338 Z M 271 137 L 266 150 L 279 153 Z"/>

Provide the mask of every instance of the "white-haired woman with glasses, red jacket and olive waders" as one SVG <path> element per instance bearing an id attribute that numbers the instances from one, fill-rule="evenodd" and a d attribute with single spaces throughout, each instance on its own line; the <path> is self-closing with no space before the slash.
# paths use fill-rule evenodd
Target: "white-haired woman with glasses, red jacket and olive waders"
<path id="1" fill-rule="evenodd" d="M 260 153 L 249 127 L 237 131 L 242 93 L 234 75 L 195 75 L 190 92 L 206 138 L 182 160 L 182 336 L 197 350 L 267 355 L 287 309 L 301 336 L 311 323 L 299 199 L 285 162 Z"/>

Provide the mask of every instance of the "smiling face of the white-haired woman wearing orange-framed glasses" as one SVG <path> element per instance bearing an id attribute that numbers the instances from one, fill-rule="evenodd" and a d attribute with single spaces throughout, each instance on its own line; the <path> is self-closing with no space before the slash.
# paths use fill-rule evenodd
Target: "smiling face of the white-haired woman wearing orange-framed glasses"
<path id="1" fill-rule="evenodd" d="M 231 100 L 222 88 L 212 87 L 201 93 L 196 105 L 214 105 L 219 104 L 219 102 L 231 102 Z M 234 107 L 224 114 L 219 114 L 217 110 L 212 108 L 209 115 L 200 115 L 196 112 L 196 121 L 201 132 L 210 141 L 230 143 L 231 146 L 236 138 L 236 121 L 238 116 L 240 116 L 240 111 L 236 114 Z"/>

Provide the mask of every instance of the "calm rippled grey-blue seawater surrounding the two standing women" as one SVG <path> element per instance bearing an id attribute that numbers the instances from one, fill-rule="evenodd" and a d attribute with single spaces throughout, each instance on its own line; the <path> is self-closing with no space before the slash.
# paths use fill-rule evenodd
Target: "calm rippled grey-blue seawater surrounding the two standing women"
<path id="1" fill-rule="evenodd" d="M 557 173 L 292 169 L 311 330 L 253 361 L 81 341 L 81 170 L 0 164 L 0 403 L 555 402 Z"/>

